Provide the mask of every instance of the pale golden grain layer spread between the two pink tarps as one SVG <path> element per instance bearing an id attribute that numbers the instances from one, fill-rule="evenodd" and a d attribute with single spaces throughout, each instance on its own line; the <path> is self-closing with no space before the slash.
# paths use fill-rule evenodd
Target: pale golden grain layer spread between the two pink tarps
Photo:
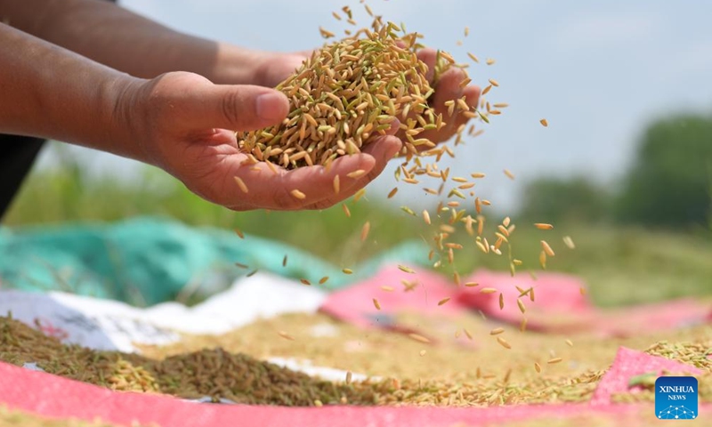
<path id="1" fill-rule="evenodd" d="M 222 345 L 259 359 L 305 359 L 315 366 L 380 377 L 360 383 L 376 394 L 380 405 L 492 406 L 586 401 L 611 366 L 619 346 L 624 345 L 700 367 L 708 373 L 700 376 L 701 399 L 712 401 L 712 360 L 707 359 L 712 353 L 712 326 L 602 339 L 590 334 L 522 334 L 517 327 L 500 326 L 479 316 L 453 319 L 409 314 L 392 321 L 400 326 L 417 325 L 418 333 L 433 337 L 432 342 L 392 331 L 363 330 L 323 315 L 285 315 L 230 334 L 187 336 L 168 347 L 142 350 L 151 357 L 163 358 Z M 490 335 L 495 327 L 504 332 Z M 289 331 L 294 341 L 270 332 L 276 330 Z M 500 335 L 508 337 L 511 350 L 498 344 L 496 337 Z M 563 361 L 546 363 L 554 357 Z M 651 392 L 635 396 L 652 399 Z M 631 398 L 620 395 L 614 399 Z"/>

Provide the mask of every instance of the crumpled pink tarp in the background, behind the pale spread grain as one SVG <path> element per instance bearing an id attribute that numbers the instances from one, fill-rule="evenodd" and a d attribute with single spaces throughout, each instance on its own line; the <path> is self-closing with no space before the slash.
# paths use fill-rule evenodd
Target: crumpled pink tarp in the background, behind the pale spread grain
<path id="1" fill-rule="evenodd" d="M 402 281 L 417 282 L 408 292 Z M 437 312 L 457 315 L 466 310 L 481 310 L 488 318 L 519 325 L 522 312 L 516 302 L 521 298 L 526 306 L 530 330 L 541 332 L 594 332 L 603 336 L 628 336 L 642 330 L 660 331 L 707 323 L 712 320 L 712 308 L 707 303 L 691 299 L 648 304 L 621 310 L 595 308 L 581 293 L 583 282 L 572 276 L 541 273 L 534 280 L 527 275 L 514 278 L 507 273 L 481 270 L 463 279 L 478 286 L 455 286 L 448 278 L 428 271 L 410 274 L 395 266 L 380 270 L 373 278 L 356 283 L 330 294 L 320 308 L 322 312 L 362 327 L 384 327 L 410 331 L 409 326 L 395 326 L 392 315 L 404 310 L 421 313 Z M 385 292 L 390 286 L 393 292 Z M 529 295 L 520 297 L 516 286 L 532 287 L 535 301 Z M 482 294 L 481 289 L 497 289 L 493 294 Z M 499 293 L 504 295 L 505 306 L 499 308 Z M 381 310 L 374 306 L 376 298 Z M 445 298 L 450 301 L 441 306 Z"/>

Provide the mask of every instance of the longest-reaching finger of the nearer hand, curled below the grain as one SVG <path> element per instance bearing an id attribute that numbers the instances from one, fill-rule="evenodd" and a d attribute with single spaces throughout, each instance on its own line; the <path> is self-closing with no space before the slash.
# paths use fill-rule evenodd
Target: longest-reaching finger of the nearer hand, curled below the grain
<path id="1" fill-rule="evenodd" d="M 392 135 L 378 136 L 363 150 L 363 155 L 368 155 L 374 159 L 373 168 L 368 173 L 358 177 L 346 176 L 346 187 L 341 189 L 339 194 L 332 194 L 329 197 L 323 198 L 312 205 L 307 205 L 307 209 L 325 209 L 331 205 L 352 197 L 357 191 L 366 187 L 369 182 L 373 181 L 383 173 L 388 162 L 395 157 L 401 150 L 402 142 Z"/>

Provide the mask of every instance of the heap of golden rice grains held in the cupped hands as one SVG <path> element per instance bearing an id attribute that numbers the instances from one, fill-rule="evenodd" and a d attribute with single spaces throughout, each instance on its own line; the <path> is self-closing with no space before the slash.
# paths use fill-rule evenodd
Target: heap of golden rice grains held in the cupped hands
<path id="1" fill-rule="evenodd" d="M 410 158 L 435 147 L 432 141 L 418 138 L 446 124 L 428 105 L 434 90 L 425 77 L 427 65 L 417 58 L 423 48 L 420 37 L 376 17 L 371 29 L 361 28 L 314 51 L 293 76 L 277 86 L 290 102 L 287 118 L 261 131 L 237 133 L 248 161 L 287 169 L 328 166 L 336 157 L 359 153 L 371 136 L 385 134 L 396 119 L 406 137 L 401 154 Z M 455 60 L 439 52 L 435 81 L 453 66 L 457 66 Z M 473 117 L 465 100 L 457 107 L 464 107 Z"/>

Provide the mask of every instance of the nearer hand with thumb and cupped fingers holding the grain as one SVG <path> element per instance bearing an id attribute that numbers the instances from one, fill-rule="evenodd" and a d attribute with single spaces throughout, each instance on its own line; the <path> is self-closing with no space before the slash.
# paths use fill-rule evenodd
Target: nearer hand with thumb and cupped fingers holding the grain
<path id="1" fill-rule="evenodd" d="M 275 165 L 272 172 L 265 163 L 251 165 L 234 131 L 278 124 L 287 116 L 287 97 L 256 85 L 214 85 L 191 73 L 168 73 L 134 85 L 125 91 L 118 111 L 117 120 L 124 122 L 118 127 L 131 129 L 124 137 L 137 142 L 139 158 L 171 173 L 198 196 L 236 211 L 335 205 L 374 180 L 401 149 L 400 140 L 385 135 L 375 137 L 363 153 L 338 158 L 329 168 L 287 171 Z"/>

